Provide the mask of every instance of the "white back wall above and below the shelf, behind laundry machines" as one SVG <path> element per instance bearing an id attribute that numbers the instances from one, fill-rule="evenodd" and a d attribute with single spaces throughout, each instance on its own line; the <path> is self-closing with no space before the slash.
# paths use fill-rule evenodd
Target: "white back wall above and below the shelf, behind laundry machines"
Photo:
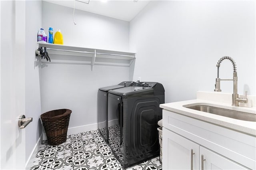
<path id="1" fill-rule="evenodd" d="M 54 32 L 61 29 L 65 45 L 128 51 L 129 22 L 76 10 L 74 26 L 72 14 L 72 8 L 42 2 L 42 27 L 53 27 Z M 42 113 L 71 109 L 70 128 L 91 124 L 95 127 L 98 88 L 129 80 L 129 67 L 94 65 L 91 71 L 90 65 L 79 61 L 47 63 L 41 71 Z"/>

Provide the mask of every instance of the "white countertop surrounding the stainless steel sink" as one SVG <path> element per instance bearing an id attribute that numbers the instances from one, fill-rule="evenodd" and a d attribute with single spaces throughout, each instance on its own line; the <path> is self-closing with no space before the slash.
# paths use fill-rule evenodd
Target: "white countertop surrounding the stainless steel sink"
<path id="1" fill-rule="evenodd" d="M 200 95 L 202 95 L 203 92 L 198 92 L 198 93 L 200 93 Z M 197 95 L 197 96 L 200 96 L 200 95 Z M 206 95 L 208 95 L 208 97 L 210 96 L 209 93 L 207 93 L 207 92 L 206 92 Z M 216 93 L 214 93 L 214 95 L 216 95 Z M 200 97 L 200 98 L 202 98 L 202 97 Z M 203 103 L 207 103 L 207 105 L 214 105 L 215 107 L 217 105 L 218 107 L 221 107 L 224 109 L 230 109 L 230 110 L 236 110 L 236 111 L 242 111 L 242 112 L 256 114 L 256 107 L 235 107 L 235 106 L 230 105 L 230 103 L 216 102 L 214 100 L 205 100 L 205 99 L 194 99 L 194 100 L 188 100 L 188 101 L 164 103 L 164 104 L 160 105 L 160 108 L 168 110 L 168 111 L 172 111 L 172 112 L 175 112 L 175 113 L 178 113 L 181 115 L 185 115 L 188 117 L 192 117 L 195 119 L 199 119 L 202 121 L 206 121 L 208 123 L 212 123 L 212 124 L 215 124 L 218 126 L 230 128 L 233 130 L 237 130 L 237 131 L 240 131 L 240 132 L 243 132 L 246 134 L 256 136 L 256 122 L 241 121 L 238 119 L 232 119 L 229 117 L 214 115 L 211 113 L 206 113 L 206 112 L 197 111 L 194 109 L 188 109 L 186 107 L 183 107 L 183 105 L 191 105 L 194 103 L 198 103 L 198 105 L 205 105 Z"/>

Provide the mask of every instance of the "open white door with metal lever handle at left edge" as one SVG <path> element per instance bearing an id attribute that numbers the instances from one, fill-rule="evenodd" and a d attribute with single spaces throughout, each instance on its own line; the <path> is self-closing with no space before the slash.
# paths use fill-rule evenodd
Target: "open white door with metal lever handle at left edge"
<path id="1" fill-rule="evenodd" d="M 0 169 L 25 169 L 25 1 L 0 0 Z"/>

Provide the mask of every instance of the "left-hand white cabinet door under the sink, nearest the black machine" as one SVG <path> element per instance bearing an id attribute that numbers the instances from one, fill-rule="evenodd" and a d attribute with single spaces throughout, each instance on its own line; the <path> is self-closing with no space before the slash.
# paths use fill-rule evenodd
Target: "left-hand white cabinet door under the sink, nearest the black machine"
<path id="1" fill-rule="evenodd" d="M 163 170 L 198 170 L 199 145 L 163 128 Z"/>

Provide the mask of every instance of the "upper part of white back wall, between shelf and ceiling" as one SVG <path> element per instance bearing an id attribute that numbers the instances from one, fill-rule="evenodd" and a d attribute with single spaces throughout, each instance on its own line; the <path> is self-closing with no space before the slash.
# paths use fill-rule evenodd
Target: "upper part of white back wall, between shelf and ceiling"
<path id="1" fill-rule="evenodd" d="M 79 5 L 81 2 L 76 2 Z M 109 50 L 129 50 L 129 22 L 75 10 L 56 4 L 42 2 L 42 26 L 48 35 L 49 27 L 54 33 L 60 29 L 64 44 Z"/>

